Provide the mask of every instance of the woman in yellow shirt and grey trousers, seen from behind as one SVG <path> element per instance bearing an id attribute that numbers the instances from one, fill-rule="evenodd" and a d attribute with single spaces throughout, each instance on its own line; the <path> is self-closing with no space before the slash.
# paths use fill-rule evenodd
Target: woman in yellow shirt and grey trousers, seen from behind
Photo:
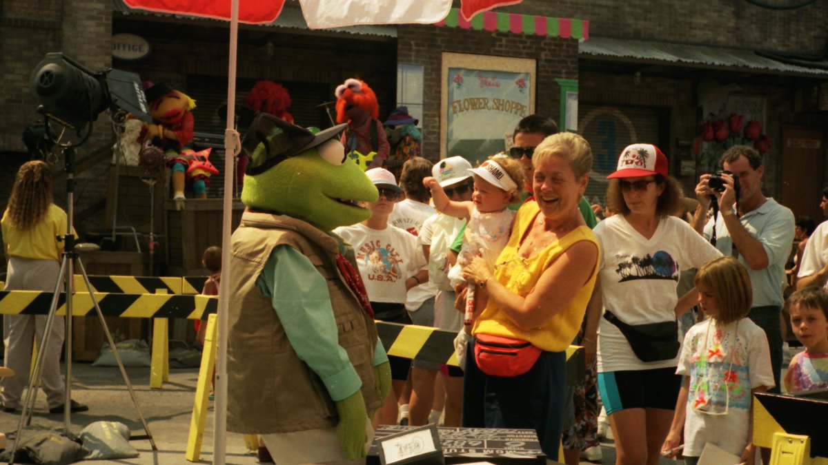
<path id="1" fill-rule="evenodd" d="M 2 237 L 7 260 L 6 290 L 54 291 L 60 278 L 60 254 L 66 233 L 66 213 L 52 204 L 51 168 L 43 161 L 29 161 L 17 171 L 12 196 L 3 213 Z M 74 233 L 74 232 L 73 232 Z M 37 334 L 42 347 L 47 315 L 5 315 L 3 340 L 6 343 L 6 367 L 15 376 L 3 378 L 2 409 L 20 408 L 23 389 L 29 379 L 31 344 Z M 41 372 L 41 386 L 46 392 L 50 413 L 64 409 L 65 387 L 60 377 L 60 349 L 64 338 L 64 319 L 55 317 Z M 71 401 L 71 410 L 89 410 Z"/>

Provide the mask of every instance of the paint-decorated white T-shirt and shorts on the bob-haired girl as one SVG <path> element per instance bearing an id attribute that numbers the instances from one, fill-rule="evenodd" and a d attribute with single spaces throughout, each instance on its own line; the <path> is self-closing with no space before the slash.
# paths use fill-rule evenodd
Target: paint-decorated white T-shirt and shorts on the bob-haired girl
<path id="1" fill-rule="evenodd" d="M 762 328 L 747 318 L 712 323 L 705 319 L 690 328 L 676 369 L 690 376 L 682 452 L 687 457 L 699 457 L 705 443 L 741 455 L 749 442 L 751 390 L 774 384 Z"/>

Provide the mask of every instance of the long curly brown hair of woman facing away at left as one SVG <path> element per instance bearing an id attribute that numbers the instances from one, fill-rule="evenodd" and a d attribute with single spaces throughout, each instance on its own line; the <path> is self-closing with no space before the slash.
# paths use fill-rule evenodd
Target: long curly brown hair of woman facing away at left
<path id="1" fill-rule="evenodd" d="M 27 161 L 12 187 L 6 207 L 12 228 L 27 231 L 46 217 L 52 202 L 51 168 L 45 161 Z"/>

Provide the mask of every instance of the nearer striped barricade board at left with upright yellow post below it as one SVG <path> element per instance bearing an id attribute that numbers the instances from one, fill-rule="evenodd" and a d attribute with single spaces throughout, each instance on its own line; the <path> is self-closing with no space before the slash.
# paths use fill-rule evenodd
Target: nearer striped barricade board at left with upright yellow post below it
<path id="1" fill-rule="evenodd" d="M 91 280 L 91 278 L 90 278 Z M 181 279 L 179 279 L 181 280 Z M 93 285 L 94 286 L 94 285 Z M 84 288 L 85 289 L 85 285 Z M 167 319 L 206 319 L 218 309 L 218 298 L 209 295 L 170 295 L 162 289 L 158 294 L 121 294 L 95 292 L 103 316 L 153 319 L 152 367 L 150 387 L 160 388 L 169 378 L 167 360 Z M 0 314 L 48 314 L 52 292 L 33 290 L 0 291 Z M 57 314 L 65 316 L 66 294 L 58 296 Z M 94 312 L 89 292 L 75 292 L 72 316 Z"/>

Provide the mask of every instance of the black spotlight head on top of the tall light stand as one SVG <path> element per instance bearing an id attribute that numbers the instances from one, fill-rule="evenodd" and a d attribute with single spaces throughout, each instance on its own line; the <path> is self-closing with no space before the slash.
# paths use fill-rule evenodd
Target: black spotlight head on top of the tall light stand
<path id="1" fill-rule="evenodd" d="M 40 105 L 38 112 L 73 128 L 93 122 L 107 108 L 152 122 L 137 74 L 112 69 L 93 73 L 62 53 L 47 53 L 37 64 L 29 93 Z"/>

